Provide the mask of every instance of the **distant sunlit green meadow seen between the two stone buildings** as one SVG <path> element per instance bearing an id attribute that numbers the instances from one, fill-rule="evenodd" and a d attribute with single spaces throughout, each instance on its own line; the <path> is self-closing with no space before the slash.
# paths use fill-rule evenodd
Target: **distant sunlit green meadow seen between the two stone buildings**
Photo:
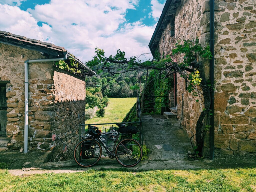
<path id="1" fill-rule="evenodd" d="M 109 98 L 109 105 L 105 108 L 104 117 L 94 117 L 86 124 L 122 122 L 123 118 L 136 103 L 136 98 Z"/>

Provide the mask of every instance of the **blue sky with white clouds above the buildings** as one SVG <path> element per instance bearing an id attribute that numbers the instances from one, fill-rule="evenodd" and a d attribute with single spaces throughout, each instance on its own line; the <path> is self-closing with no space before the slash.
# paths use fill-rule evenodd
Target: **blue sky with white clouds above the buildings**
<path id="1" fill-rule="evenodd" d="M 148 43 L 165 0 L 0 0 L 0 30 L 63 46 L 86 61 L 94 48 L 127 56 Z M 146 54 L 150 58 L 150 54 Z"/>

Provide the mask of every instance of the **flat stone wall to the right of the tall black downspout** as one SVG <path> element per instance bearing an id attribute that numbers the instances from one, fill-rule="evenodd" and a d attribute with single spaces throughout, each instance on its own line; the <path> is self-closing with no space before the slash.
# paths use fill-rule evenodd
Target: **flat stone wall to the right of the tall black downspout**
<path id="1" fill-rule="evenodd" d="M 219 1 L 215 12 L 215 153 L 256 152 L 256 3 Z M 206 142 L 208 146 L 208 142 Z"/>

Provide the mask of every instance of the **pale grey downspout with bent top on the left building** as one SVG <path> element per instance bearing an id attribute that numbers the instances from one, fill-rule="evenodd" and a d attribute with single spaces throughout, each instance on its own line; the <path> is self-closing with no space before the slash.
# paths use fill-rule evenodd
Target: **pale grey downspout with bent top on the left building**
<path id="1" fill-rule="evenodd" d="M 28 152 L 28 63 L 40 63 L 40 62 L 51 62 L 51 61 L 61 61 L 66 60 L 68 54 L 62 58 L 52 58 L 52 59 L 34 59 L 26 60 L 24 62 L 24 72 L 25 72 L 25 124 L 24 124 L 24 153 Z"/>

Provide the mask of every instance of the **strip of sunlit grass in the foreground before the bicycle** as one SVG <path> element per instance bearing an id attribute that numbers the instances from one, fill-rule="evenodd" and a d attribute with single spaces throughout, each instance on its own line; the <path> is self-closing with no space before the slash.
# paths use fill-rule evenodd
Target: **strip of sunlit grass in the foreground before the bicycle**
<path id="1" fill-rule="evenodd" d="M 88 170 L 13 176 L 0 169 L 0 191 L 255 191 L 256 169 Z"/>

